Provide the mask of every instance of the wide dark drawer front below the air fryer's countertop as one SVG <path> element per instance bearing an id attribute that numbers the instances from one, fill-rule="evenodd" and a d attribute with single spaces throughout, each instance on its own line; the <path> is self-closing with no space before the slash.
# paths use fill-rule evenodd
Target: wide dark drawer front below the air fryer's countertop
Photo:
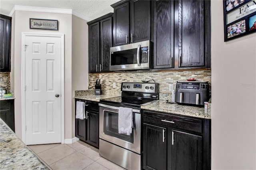
<path id="1" fill-rule="evenodd" d="M 202 133 L 202 120 L 156 113 L 150 111 L 143 112 L 144 122 L 156 123 L 167 127 L 176 127 L 184 130 Z"/>

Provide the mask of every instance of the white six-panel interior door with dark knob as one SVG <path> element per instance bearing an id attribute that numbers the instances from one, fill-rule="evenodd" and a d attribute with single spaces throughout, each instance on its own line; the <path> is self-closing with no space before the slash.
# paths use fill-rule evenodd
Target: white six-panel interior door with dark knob
<path id="1" fill-rule="evenodd" d="M 61 38 L 26 36 L 25 44 L 26 144 L 60 143 Z"/>

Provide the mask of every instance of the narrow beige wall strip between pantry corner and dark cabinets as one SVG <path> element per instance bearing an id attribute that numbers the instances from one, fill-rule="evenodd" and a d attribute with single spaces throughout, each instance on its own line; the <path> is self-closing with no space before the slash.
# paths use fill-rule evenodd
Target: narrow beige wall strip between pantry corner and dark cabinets
<path id="1" fill-rule="evenodd" d="M 72 16 L 72 96 L 88 89 L 88 25 Z M 72 138 L 75 136 L 75 100 L 72 99 Z"/>

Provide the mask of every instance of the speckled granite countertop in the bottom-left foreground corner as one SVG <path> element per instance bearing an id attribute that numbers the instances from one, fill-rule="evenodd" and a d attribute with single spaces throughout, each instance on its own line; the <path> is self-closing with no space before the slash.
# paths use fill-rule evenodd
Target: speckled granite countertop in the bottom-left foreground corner
<path id="1" fill-rule="evenodd" d="M 2 170 L 48 170 L 2 119 L 0 119 L 0 154 Z"/>

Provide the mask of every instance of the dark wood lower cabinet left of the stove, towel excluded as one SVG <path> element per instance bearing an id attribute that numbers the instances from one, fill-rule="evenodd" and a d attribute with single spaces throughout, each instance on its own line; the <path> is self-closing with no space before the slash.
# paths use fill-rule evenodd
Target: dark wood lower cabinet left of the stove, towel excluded
<path id="1" fill-rule="evenodd" d="M 76 119 L 76 137 L 80 140 L 99 148 L 99 111 L 98 103 L 92 101 L 78 100 L 86 104 L 86 119 Z"/>

